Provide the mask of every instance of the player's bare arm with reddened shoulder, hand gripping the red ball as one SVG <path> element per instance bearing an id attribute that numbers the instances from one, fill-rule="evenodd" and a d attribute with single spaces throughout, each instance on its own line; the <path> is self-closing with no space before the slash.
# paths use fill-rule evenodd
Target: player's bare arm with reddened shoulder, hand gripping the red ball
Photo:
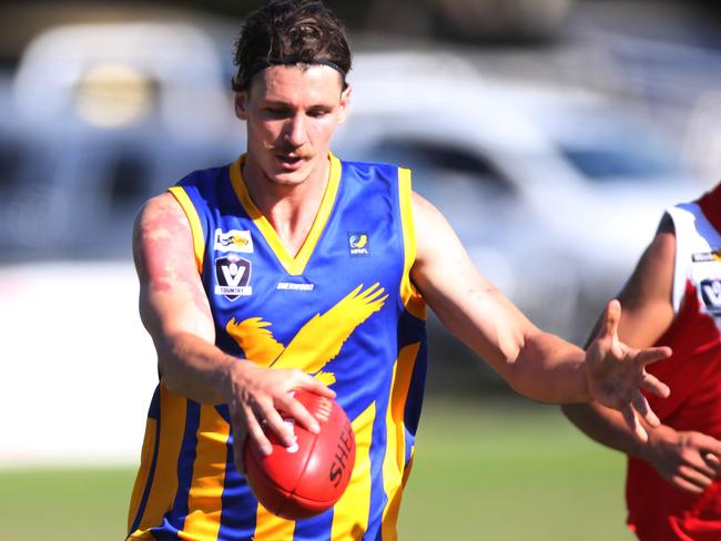
<path id="1" fill-rule="evenodd" d="M 262 452 L 270 451 L 262 421 L 287 445 L 293 443 L 278 410 L 317 431 L 313 416 L 288 391 L 303 387 L 329 397 L 333 391 L 301 370 L 264 369 L 214 345 L 213 316 L 195 266 L 190 224 L 172 194 L 153 197 L 139 213 L 133 257 L 141 319 L 155 345 L 169 390 L 199 402 L 227 404 L 234 433 L 247 433 Z M 235 447 L 238 465 L 240 447 Z"/>

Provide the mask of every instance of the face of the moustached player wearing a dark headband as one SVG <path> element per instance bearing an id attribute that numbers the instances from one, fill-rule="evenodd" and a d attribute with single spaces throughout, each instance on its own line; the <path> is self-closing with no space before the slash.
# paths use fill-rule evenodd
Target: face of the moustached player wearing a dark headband
<path id="1" fill-rule="evenodd" d="M 255 75 L 251 90 L 235 95 L 235 112 L 247 122 L 250 169 L 285 185 L 325 173 L 349 94 L 327 65 L 274 65 Z"/>

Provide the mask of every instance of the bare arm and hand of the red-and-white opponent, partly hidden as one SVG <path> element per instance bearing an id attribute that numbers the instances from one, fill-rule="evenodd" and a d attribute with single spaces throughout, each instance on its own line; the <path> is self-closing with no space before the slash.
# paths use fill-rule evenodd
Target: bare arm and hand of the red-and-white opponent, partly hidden
<path id="1" fill-rule="evenodd" d="M 636 347 L 656 344 L 673 320 L 671 300 L 676 238 L 667 221 L 641 256 L 619 298 L 620 338 Z M 598 402 L 561 406 L 566 417 L 591 439 L 647 460 L 676 487 L 701 492 L 719 472 L 721 442 L 700 432 L 660 426 L 648 440 L 634 437 L 622 416 Z"/>

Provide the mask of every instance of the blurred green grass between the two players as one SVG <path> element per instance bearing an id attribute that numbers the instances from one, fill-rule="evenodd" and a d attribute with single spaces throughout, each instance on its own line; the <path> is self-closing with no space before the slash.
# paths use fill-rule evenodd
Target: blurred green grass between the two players
<path id="1" fill-rule="evenodd" d="M 555 406 L 426 404 L 404 492 L 402 540 L 632 540 L 626 460 Z"/>

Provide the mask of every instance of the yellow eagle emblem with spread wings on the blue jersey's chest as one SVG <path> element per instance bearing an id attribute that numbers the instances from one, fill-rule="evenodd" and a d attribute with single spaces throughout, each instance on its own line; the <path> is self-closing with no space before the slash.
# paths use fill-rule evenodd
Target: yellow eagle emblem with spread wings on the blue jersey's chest
<path id="1" fill-rule="evenodd" d="M 268 328 L 273 324 L 261 317 L 240 323 L 232 318 L 225 330 L 248 359 L 264 368 L 299 368 L 314 374 L 325 385 L 335 382 L 335 375 L 323 368 L 341 353 L 353 331 L 383 308 L 388 295 L 379 284 L 363 289 L 363 284 L 324 314 L 316 314 L 293 337 L 287 346 L 275 339 Z"/>

